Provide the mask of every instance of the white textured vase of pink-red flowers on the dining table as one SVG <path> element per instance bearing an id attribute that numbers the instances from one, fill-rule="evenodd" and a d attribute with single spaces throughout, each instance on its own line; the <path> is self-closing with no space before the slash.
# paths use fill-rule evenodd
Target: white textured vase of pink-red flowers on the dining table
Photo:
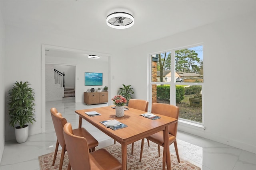
<path id="1" fill-rule="evenodd" d="M 116 117 L 123 117 L 124 105 L 127 103 L 126 98 L 121 95 L 116 95 L 111 100 L 113 101 L 114 105 L 116 105 Z"/>

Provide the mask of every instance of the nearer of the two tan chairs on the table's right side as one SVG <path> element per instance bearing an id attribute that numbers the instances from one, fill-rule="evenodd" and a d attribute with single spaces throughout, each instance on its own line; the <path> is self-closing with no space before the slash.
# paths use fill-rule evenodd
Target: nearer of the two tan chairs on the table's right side
<path id="1" fill-rule="evenodd" d="M 162 104 L 162 103 L 153 103 L 151 113 L 153 113 L 153 114 L 156 113 L 156 114 L 165 115 L 165 116 L 169 116 L 169 117 L 178 119 L 179 110 L 180 110 L 180 108 L 178 106 L 174 106 L 174 105 L 170 105 L 170 104 Z M 169 145 L 174 143 L 176 156 L 177 156 L 178 162 L 180 162 L 177 141 L 176 141 L 177 128 L 178 128 L 178 122 L 169 125 L 168 126 L 169 134 L 168 135 L 169 135 Z M 154 133 L 153 135 L 146 137 L 146 139 L 148 140 L 148 147 L 149 147 L 149 141 L 152 141 L 152 142 L 158 144 L 158 156 L 160 156 L 160 146 L 162 146 L 162 147 L 164 146 L 164 131 Z M 142 142 L 141 142 L 140 162 L 142 159 L 143 147 L 144 147 L 144 139 L 142 139 Z M 163 162 L 163 167 L 164 166 L 165 166 L 165 162 Z"/>

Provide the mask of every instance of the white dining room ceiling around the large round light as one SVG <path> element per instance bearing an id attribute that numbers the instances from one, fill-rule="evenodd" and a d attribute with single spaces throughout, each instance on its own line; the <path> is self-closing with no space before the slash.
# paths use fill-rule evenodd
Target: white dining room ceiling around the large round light
<path id="1" fill-rule="evenodd" d="M 116 48 L 135 47 L 252 10 L 256 10 L 255 0 L 1 0 L 5 24 Z M 108 14 L 120 11 L 134 16 L 132 27 L 106 25 Z"/>

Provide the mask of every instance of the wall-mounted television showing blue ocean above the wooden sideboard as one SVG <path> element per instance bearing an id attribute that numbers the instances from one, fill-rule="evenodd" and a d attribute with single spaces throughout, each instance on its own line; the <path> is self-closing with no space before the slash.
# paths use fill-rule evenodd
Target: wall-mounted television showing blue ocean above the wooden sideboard
<path id="1" fill-rule="evenodd" d="M 102 86 L 102 73 L 85 72 L 84 85 L 85 86 Z"/>

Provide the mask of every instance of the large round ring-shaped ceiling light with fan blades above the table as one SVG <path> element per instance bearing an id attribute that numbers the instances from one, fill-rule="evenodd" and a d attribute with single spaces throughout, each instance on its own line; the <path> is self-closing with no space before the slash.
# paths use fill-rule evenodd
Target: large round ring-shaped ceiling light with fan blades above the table
<path id="1" fill-rule="evenodd" d="M 129 28 L 134 24 L 134 18 L 126 12 L 114 12 L 107 17 L 107 25 L 116 29 Z"/>

